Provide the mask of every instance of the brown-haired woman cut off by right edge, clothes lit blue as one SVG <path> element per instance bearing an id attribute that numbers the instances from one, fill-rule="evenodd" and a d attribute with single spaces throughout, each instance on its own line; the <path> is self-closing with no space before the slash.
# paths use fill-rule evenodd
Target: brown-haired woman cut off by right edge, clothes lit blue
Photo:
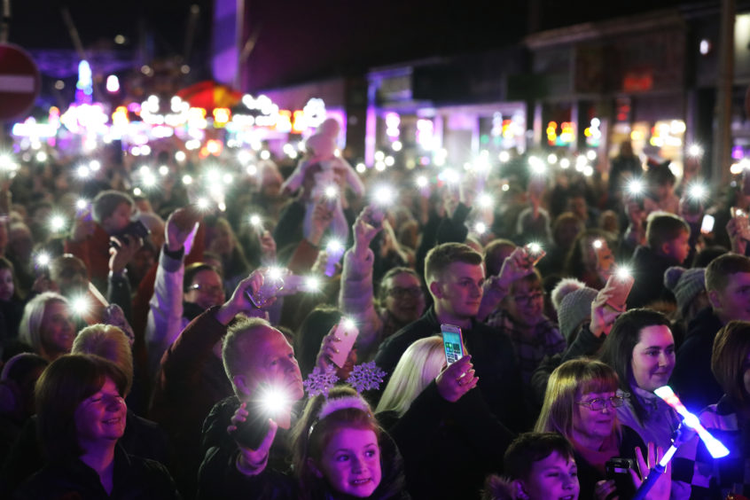
<path id="1" fill-rule="evenodd" d="M 750 496 L 747 461 L 750 458 L 750 323 L 730 321 L 714 339 L 711 371 L 724 391 L 716 404 L 700 415 L 700 422 L 730 454 L 712 458 L 698 437 L 684 445 L 695 458 L 691 498 Z"/>

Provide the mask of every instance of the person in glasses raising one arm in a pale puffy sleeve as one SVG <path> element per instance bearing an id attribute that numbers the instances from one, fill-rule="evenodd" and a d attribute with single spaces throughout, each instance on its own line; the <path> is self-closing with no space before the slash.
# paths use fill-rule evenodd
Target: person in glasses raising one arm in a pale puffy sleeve
<path id="1" fill-rule="evenodd" d="M 376 301 L 372 283 L 375 255 L 370 243 L 382 224 L 374 222 L 373 209 L 368 206 L 357 216 L 352 229 L 355 241 L 344 254 L 339 309 L 358 325 L 357 355 L 360 360 L 368 361 L 383 340 L 422 316 L 425 293 L 414 270 L 396 267 L 380 280 Z"/>

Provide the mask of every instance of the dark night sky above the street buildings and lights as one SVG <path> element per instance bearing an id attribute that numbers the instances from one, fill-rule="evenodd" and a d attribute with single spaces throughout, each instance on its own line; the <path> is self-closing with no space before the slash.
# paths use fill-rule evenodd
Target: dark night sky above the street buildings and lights
<path id="1" fill-rule="evenodd" d="M 131 55 L 145 48 L 157 58 L 183 53 L 190 5 L 198 4 L 192 77 L 209 75 L 211 0 L 11 0 L 11 4 L 10 41 L 28 49 L 74 49 L 60 14 L 66 5 L 87 50 Z M 259 30 L 249 59 L 253 85 L 264 88 L 362 74 L 372 66 L 409 59 L 491 50 L 517 43 L 534 24 L 541 29 L 567 26 L 679 2 L 538 0 L 536 23 L 530 21 L 529 3 L 520 1 L 246 0 L 246 4 L 251 32 Z M 114 43 L 115 35 L 124 35 L 126 43 Z"/>

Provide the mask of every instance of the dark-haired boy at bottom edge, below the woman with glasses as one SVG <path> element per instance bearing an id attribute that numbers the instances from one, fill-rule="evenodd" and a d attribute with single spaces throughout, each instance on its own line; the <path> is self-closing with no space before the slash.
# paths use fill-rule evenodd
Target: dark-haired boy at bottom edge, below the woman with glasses
<path id="1" fill-rule="evenodd" d="M 505 451 L 504 468 L 508 480 L 489 476 L 484 500 L 578 499 L 580 485 L 573 448 L 560 434 L 520 434 Z"/>

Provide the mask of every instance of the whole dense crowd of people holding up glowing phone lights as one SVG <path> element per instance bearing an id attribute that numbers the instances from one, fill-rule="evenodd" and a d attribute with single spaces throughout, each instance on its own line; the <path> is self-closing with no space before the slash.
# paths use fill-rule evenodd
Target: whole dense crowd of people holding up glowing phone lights
<path id="1" fill-rule="evenodd" d="M 629 144 L 360 175 L 338 133 L 252 175 L 174 145 L 0 171 L 0 496 L 622 500 L 667 385 L 730 454 L 686 439 L 646 498 L 750 496 L 744 182 Z"/>

